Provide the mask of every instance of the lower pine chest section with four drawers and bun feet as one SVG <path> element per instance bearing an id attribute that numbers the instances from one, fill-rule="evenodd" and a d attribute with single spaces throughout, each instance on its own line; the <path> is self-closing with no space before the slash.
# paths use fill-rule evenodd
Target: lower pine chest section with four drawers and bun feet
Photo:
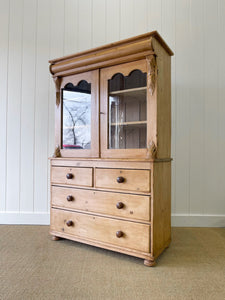
<path id="1" fill-rule="evenodd" d="M 97 159 L 51 160 L 54 240 L 66 238 L 128 254 L 153 266 L 170 243 L 167 202 L 170 161 L 121 165 Z"/>

